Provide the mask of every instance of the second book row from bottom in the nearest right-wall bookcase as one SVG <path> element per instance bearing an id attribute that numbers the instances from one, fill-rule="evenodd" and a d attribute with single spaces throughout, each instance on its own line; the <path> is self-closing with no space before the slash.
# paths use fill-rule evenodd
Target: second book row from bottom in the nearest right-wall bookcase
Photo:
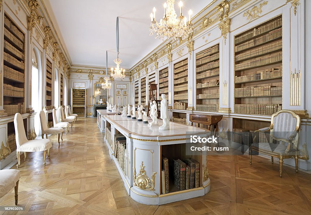
<path id="1" fill-rule="evenodd" d="M 235 97 L 281 96 L 281 86 L 258 86 L 235 88 Z"/>

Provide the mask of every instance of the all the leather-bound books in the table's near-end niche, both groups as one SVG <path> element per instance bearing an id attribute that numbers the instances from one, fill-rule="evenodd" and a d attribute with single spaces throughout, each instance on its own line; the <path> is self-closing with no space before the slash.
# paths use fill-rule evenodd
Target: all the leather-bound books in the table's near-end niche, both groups
<path id="1" fill-rule="evenodd" d="M 170 161 L 171 162 L 171 161 Z M 173 160 L 174 185 L 179 190 L 200 186 L 200 163 L 192 158 Z M 162 194 L 169 193 L 169 159 L 162 156 Z"/>

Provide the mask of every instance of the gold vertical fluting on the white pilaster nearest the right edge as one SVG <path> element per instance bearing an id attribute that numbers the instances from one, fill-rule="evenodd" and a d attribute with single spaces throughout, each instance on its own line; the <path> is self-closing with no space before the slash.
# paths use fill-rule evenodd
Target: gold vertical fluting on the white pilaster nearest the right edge
<path id="1" fill-rule="evenodd" d="M 290 71 L 290 105 L 291 106 L 300 106 L 300 79 L 301 74 L 299 72 L 293 73 Z"/>

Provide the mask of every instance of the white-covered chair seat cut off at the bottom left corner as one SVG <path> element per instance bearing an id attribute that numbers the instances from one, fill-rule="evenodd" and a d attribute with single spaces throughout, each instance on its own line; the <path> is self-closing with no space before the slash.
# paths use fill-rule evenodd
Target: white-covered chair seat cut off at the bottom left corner
<path id="1" fill-rule="evenodd" d="M 15 205 L 18 201 L 18 182 L 20 179 L 18 170 L 0 170 L 0 198 L 10 192 L 14 188 Z"/>

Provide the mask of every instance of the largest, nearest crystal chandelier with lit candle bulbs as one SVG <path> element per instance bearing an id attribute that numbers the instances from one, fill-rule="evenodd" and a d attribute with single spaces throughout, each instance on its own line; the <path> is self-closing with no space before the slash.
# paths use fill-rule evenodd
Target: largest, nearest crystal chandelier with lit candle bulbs
<path id="1" fill-rule="evenodd" d="M 183 3 L 179 2 L 180 16 L 174 9 L 175 0 L 167 0 L 164 3 L 164 16 L 160 19 L 160 23 L 156 21 L 156 8 L 153 7 L 153 13 L 150 14 L 151 26 L 149 27 L 150 35 L 156 34 L 156 38 L 164 40 L 164 37 L 186 39 L 193 32 L 193 24 L 191 23 L 192 11 L 189 11 L 189 22 L 187 24 L 186 17 L 183 16 Z"/>

